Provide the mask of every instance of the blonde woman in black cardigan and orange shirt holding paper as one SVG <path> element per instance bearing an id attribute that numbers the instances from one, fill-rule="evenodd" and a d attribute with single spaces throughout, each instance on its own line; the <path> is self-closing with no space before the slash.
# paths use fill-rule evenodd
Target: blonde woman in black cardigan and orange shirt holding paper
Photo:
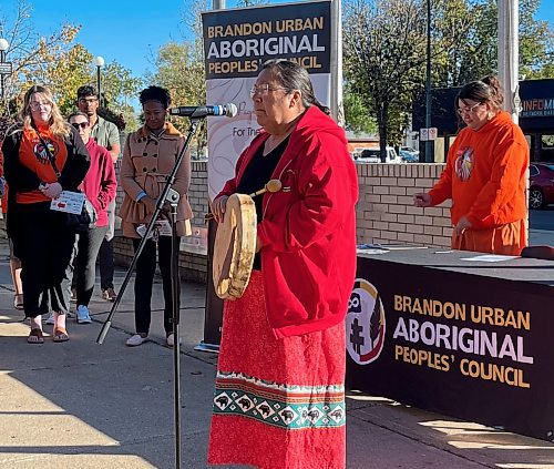
<path id="1" fill-rule="evenodd" d="M 75 235 L 65 227 L 66 214 L 50 206 L 62 191 L 78 190 L 90 155 L 48 88 L 31 86 L 19 116 L 21 122 L 8 131 L 2 153 L 6 180 L 14 195 L 9 230 L 22 266 L 23 307 L 31 325 L 27 340 L 44 343 L 42 315 L 52 309 L 53 340 L 65 341 L 66 268 Z"/>

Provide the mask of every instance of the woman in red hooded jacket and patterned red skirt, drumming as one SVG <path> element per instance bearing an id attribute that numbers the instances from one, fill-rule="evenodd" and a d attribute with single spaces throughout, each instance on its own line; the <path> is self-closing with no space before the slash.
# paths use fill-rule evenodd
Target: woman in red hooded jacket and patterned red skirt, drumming
<path id="1" fill-rule="evenodd" d="M 252 90 L 261 132 L 213 202 L 278 179 L 255 197 L 257 255 L 242 298 L 225 302 L 208 462 L 345 468 L 345 325 L 356 269 L 358 177 L 345 132 L 308 73 L 267 62 Z"/>

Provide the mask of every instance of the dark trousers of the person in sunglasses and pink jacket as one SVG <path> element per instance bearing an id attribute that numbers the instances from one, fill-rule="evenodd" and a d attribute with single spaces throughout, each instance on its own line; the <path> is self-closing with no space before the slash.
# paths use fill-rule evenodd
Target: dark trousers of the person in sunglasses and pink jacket
<path id="1" fill-rule="evenodd" d="M 76 256 L 73 261 L 73 285 L 76 289 L 76 304 L 89 306 L 96 279 L 96 257 L 107 226 L 80 233 L 75 242 Z"/>

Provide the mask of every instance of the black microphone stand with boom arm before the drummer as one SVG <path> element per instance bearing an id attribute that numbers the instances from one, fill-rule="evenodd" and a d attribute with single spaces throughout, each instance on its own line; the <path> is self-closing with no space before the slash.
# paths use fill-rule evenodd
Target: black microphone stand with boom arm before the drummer
<path id="1" fill-rule="evenodd" d="M 185 152 L 191 144 L 191 140 L 193 139 L 196 130 L 198 128 L 199 120 L 191 119 L 191 126 L 188 128 L 188 134 L 186 136 L 185 143 L 181 149 L 181 152 L 175 161 L 175 165 L 173 166 L 172 172 L 165 180 L 165 185 L 160 194 L 160 197 L 156 201 L 156 210 L 152 215 L 152 220 L 150 221 L 146 232 L 138 244 L 135 255 L 131 261 L 131 265 L 127 268 L 125 274 L 125 278 L 123 279 L 123 284 L 120 287 L 120 294 L 115 298 L 115 302 L 110 309 L 110 314 L 107 315 L 106 320 L 104 322 L 102 329 L 100 330 L 99 337 L 96 338 L 98 344 L 103 344 L 110 327 L 112 326 L 112 318 L 120 305 L 121 298 L 123 297 L 123 293 L 127 287 L 129 281 L 131 279 L 131 275 L 133 275 L 133 269 L 136 265 L 136 262 L 146 244 L 146 241 L 150 237 L 150 234 L 154 230 L 154 224 L 156 223 L 160 214 L 162 214 L 162 210 L 164 205 L 170 204 L 170 224 L 172 227 L 172 263 L 171 263 L 171 276 L 172 276 L 172 305 L 173 305 L 173 383 L 174 383 L 174 418 L 175 418 L 175 468 L 181 469 L 181 339 L 178 333 L 179 325 L 179 297 L 181 297 L 181 284 L 178 279 L 178 242 L 177 242 L 177 205 L 179 201 L 179 194 L 172 188 L 173 183 L 175 182 L 175 174 L 177 173 L 178 167 L 185 156 Z M 164 214 L 165 215 L 165 214 Z M 166 215 L 165 215 L 166 216 Z"/>

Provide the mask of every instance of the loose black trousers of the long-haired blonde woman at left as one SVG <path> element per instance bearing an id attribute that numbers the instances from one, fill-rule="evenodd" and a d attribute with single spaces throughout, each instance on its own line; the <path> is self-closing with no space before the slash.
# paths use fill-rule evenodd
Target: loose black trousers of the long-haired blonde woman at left
<path id="1" fill-rule="evenodd" d="M 25 317 L 69 310 L 68 266 L 75 234 L 50 202 L 18 204 L 16 251 L 21 259 Z"/>

